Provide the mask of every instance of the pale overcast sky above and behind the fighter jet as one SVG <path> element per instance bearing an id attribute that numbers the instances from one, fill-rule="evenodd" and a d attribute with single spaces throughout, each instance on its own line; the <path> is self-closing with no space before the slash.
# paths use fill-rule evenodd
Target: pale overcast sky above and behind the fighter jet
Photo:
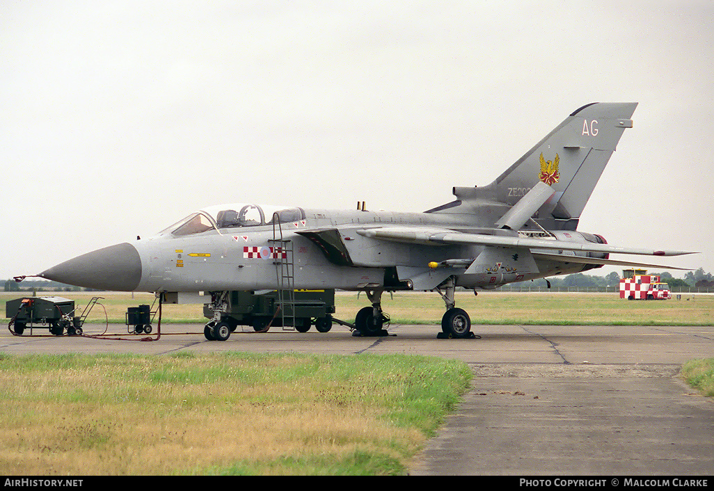
<path id="1" fill-rule="evenodd" d="M 714 272 L 712 1 L 0 11 L 0 278 L 211 204 L 424 211 L 595 101 L 640 105 L 578 229 Z"/>

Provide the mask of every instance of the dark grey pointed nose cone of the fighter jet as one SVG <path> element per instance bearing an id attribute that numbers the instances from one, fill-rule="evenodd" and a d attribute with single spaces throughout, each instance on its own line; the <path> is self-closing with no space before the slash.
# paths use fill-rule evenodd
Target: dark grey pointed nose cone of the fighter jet
<path id="1" fill-rule="evenodd" d="M 141 258 L 136 248 L 125 242 L 78 255 L 39 275 L 84 288 L 132 291 L 141 281 Z"/>

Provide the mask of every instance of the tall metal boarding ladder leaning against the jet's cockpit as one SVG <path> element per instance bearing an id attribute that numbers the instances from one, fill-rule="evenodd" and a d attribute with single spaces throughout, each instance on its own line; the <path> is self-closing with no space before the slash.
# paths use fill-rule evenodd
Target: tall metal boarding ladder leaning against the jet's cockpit
<path id="1" fill-rule="evenodd" d="M 278 213 L 273 213 L 273 264 L 276 272 L 278 305 L 283 330 L 295 330 L 295 256 L 293 241 L 283 238 Z"/>

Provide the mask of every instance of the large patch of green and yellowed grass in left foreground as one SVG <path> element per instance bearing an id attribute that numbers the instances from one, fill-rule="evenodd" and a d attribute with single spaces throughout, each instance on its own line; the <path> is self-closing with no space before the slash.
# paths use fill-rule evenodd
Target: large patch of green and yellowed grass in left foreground
<path id="1" fill-rule="evenodd" d="M 407 355 L 0 355 L 0 474 L 399 475 L 470 379 Z"/>

